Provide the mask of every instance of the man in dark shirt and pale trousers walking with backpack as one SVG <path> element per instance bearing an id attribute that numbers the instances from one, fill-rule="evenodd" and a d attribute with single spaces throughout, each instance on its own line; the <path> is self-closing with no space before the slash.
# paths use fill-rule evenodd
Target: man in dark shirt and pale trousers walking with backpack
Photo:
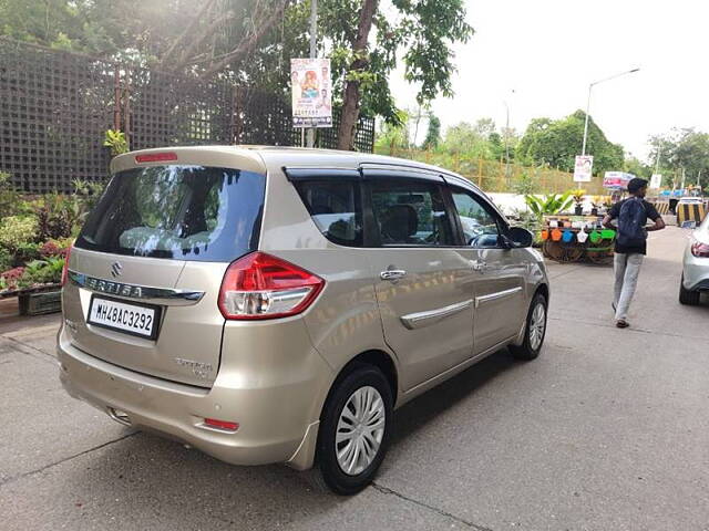
<path id="1" fill-rule="evenodd" d="M 630 197 L 616 202 L 603 220 L 605 227 L 617 231 L 613 310 L 616 312 L 616 326 L 619 329 L 629 326 L 628 309 L 638 284 L 643 259 L 647 253 L 647 232 L 665 228 L 665 221 L 655 206 L 645 200 L 647 180 L 630 179 L 628 194 Z M 655 225 L 646 228 L 648 218 Z M 617 227 L 614 227 L 612 221 L 616 219 Z"/>

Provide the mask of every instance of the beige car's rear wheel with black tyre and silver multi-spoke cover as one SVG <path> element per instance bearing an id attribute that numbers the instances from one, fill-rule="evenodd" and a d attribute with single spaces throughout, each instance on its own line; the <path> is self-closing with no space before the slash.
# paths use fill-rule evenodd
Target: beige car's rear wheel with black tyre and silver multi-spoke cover
<path id="1" fill-rule="evenodd" d="M 342 496 L 367 487 L 384 459 L 392 417 L 392 389 L 382 372 L 360 365 L 348 373 L 336 383 L 325 404 L 309 482 Z"/>

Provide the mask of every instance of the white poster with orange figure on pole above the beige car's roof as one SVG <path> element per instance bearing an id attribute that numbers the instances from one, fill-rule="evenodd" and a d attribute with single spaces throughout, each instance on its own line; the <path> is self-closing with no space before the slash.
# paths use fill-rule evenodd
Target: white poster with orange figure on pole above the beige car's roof
<path id="1" fill-rule="evenodd" d="M 329 59 L 291 59 L 292 125 L 332 127 Z"/>

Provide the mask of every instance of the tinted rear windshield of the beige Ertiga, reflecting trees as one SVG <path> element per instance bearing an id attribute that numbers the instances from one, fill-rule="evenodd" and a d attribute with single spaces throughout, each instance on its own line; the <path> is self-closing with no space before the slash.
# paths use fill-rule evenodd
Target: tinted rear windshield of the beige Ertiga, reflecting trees
<path id="1" fill-rule="evenodd" d="M 92 251 L 222 262 L 257 248 L 266 177 L 204 166 L 117 173 L 75 247 Z"/>

